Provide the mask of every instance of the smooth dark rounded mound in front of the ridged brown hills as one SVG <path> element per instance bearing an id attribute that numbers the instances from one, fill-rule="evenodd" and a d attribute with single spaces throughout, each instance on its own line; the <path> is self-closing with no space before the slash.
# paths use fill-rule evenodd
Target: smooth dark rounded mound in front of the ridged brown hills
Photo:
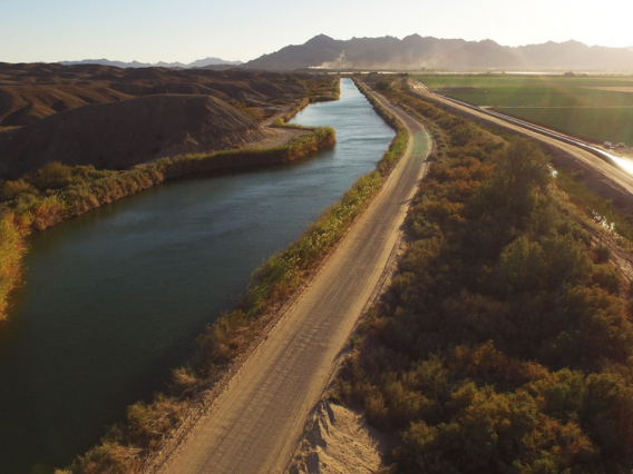
<path id="1" fill-rule="evenodd" d="M 120 169 L 261 138 L 254 120 L 220 99 L 148 96 L 79 107 L 0 134 L 0 174 L 19 176 L 52 160 Z"/>

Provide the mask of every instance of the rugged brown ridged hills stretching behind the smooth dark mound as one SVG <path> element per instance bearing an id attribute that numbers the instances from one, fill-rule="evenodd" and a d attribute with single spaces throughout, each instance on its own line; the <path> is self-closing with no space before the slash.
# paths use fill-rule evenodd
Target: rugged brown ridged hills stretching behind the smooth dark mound
<path id="1" fill-rule="evenodd" d="M 156 93 L 208 95 L 266 107 L 299 100 L 306 91 L 272 72 L 0 63 L 0 127 L 28 126 L 77 107 Z"/>

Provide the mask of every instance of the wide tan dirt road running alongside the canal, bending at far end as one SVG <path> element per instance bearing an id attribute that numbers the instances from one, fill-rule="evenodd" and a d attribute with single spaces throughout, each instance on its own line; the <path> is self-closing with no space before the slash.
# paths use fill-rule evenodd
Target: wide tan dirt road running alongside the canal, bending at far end
<path id="1" fill-rule="evenodd" d="M 295 305 L 244 363 L 159 473 L 280 473 L 322 395 L 338 355 L 380 285 L 430 137 L 381 102 L 411 134 L 407 154 Z"/>

